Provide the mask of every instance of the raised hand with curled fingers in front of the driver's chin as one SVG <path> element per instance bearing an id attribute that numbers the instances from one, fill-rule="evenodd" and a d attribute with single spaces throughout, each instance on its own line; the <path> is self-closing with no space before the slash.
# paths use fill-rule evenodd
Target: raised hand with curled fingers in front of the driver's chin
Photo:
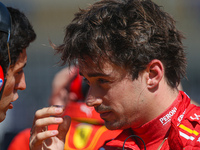
<path id="1" fill-rule="evenodd" d="M 29 147 L 30 150 L 63 150 L 71 118 L 61 117 L 60 106 L 42 108 L 35 113 Z M 57 130 L 48 130 L 48 125 L 58 124 Z"/>

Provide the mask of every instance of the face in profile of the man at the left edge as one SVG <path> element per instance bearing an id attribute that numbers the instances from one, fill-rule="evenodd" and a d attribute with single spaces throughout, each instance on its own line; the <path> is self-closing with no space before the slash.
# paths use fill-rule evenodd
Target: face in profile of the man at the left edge
<path id="1" fill-rule="evenodd" d="M 7 81 L 0 100 L 0 122 L 6 117 L 8 109 L 12 109 L 12 102 L 19 97 L 17 91 L 26 89 L 25 75 L 23 68 L 27 62 L 26 49 L 19 55 L 17 62 L 11 65 L 6 75 Z"/>

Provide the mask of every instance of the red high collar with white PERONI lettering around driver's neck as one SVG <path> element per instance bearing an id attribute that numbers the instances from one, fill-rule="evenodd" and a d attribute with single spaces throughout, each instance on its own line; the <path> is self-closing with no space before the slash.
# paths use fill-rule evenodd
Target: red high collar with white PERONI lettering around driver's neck
<path id="1" fill-rule="evenodd" d="M 108 142 L 106 145 L 122 147 L 124 140 L 128 136 L 135 134 L 144 140 L 148 149 L 157 149 L 163 139 L 168 135 L 169 129 L 171 127 L 171 120 L 176 120 L 176 124 L 178 124 L 182 120 L 181 118 L 183 118 L 182 116 L 184 115 L 184 112 L 189 104 L 190 98 L 184 92 L 180 91 L 179 95 L 171 104 L 171 106 L 158 117 L 144 124 L 142 127 L 134 129 L 134 131 L 132 129 L 126 129 L 122 131 L 118 137 Z M 138 146 L 135 141 L 136 140 L 129 138 L 126 141 L 125 147 L 134 147 L 135 150 L 137 150 Z M 141 142 L 139 145 L 140 147 L 143 147 Z"/>

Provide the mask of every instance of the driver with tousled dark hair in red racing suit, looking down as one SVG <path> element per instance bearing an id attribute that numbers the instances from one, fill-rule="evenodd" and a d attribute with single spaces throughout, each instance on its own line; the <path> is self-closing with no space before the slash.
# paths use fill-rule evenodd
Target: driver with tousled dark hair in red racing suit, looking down
<path id="1" fill-rule="evenodd" d="M 200 147 L 200 109 L 177 88 L 186 74 L 183 38 L 151 0 L 102 0 L 76 13 L 55 49 L 88 81 L 86 104 L 108 129 L 123 129 L 102 150 Z"/>

